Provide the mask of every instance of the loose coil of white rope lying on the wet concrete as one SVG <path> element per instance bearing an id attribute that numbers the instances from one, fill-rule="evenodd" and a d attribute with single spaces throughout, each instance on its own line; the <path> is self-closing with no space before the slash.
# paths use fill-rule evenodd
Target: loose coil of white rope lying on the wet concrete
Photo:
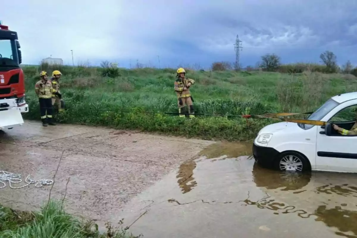
<path id="1" fill-rule="evenodd" d="M 35 187 L 42 187 L 43 185 L 52 185 L 53 184 L 53 180 L 51 180 L 51 179 L 33 180 L 30 178 L 30 174 L 29 174 L 25 179 L 26 184 L 24 186 L 12 187 L 12 185 L 11 185 L 12 183 L 21 183 L 22 182 L 21 174 L 0 171 L 0 188 L 5 188 L 6 182 L 9 182 L 10 188 L 24 188 L 26 186 L 29 186 L 32 183 L 35 183 Z"/>

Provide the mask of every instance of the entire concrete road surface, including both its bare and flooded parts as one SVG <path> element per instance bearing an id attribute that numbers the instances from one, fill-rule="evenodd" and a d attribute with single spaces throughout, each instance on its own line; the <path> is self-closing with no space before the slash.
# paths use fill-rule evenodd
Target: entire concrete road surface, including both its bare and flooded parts
<path id="1" fill-rule="evenodd" d="M 52 198 L 144 237 L 357 237 L 357 175 L 263 169 L 250 143 L 26 122 L 0 135 L 0 170 L 52 179 Z M 185 148 L 184 150 L 182 148 Z M 56 172 L 57 171 L 57 172 Z M 14 184 L 17 186 L 17 184 Z M 50 186 L 0 189 L 34 209 Z"/>

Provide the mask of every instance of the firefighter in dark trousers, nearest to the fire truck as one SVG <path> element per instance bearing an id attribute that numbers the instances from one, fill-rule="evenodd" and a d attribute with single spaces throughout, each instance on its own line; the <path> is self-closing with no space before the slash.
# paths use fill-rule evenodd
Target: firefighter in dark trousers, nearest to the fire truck
<path id="1" fill-rule="evenodd" d="M 41 80 L 35 84 L 35 92 L 39 97 L 42 126 L 47 126 L 47 123 L 54 126 L 55 124 L 52 121 L 53 110 L 51 100 L 53 92 L 52 83 L 48 80 L 46 71 L 40 73 L 40 78 Z"/>

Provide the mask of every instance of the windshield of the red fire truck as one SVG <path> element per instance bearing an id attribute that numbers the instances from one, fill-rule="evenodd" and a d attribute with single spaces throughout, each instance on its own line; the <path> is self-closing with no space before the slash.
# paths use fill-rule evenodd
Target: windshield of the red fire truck
<path id="1" fill-rule="evenodd" d="M 1 67 L 19 67 L 15 40 L 0 39 Z"/>

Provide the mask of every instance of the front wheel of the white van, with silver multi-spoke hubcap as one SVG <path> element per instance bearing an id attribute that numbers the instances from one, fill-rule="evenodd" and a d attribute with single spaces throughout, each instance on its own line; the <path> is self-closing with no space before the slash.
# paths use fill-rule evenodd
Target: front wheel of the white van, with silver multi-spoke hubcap
<path id="1" fill-rule="evenodd" d="M 279 155 L 274 167 L 280 171 L 304 172 L 310 170 L 305 156 L 295 151 L 286 151 Z"/>

